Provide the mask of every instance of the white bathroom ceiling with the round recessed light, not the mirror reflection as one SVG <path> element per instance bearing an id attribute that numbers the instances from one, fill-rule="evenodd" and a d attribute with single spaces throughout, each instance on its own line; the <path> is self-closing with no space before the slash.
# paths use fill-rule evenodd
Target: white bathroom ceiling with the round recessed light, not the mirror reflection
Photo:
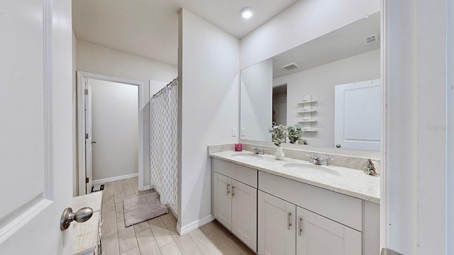
<path id="1" fill-rule="evenodd" d="M 187 9 L 242 38 L 297 0 L 72 0 L 77 40 L 177 65 L 178 12 Z M 245 6 L 255 8 L 249 20 Z"/>

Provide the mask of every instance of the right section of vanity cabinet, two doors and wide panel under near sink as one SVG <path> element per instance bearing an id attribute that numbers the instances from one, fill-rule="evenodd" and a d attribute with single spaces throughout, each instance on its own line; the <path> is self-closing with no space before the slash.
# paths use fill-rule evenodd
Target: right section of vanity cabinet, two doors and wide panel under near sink
<path id="1" fill-rule="evenodd" d="M 291 181 L 259 173 L 259 188 L 273 182 L 263 189 L 280 198 L 259 191 L 258 254 L 362 254 L 361 232 L 347 225 L 361 229 L 361 200 L 332 191 L 323 194 L 325 190 L 304 183 L 297 187 Z M 331 211 L 328 215 L 339 214 L 338 221 L 324 217 L 325 210 Z"/>

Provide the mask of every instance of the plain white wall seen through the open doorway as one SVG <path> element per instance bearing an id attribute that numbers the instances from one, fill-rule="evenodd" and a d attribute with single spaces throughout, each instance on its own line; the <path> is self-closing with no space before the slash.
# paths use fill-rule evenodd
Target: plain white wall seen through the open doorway
<path id="1" fill-rule="evenodd" d="M 138 173 L 138 86 L 89 79 L 93 180 Z"/>

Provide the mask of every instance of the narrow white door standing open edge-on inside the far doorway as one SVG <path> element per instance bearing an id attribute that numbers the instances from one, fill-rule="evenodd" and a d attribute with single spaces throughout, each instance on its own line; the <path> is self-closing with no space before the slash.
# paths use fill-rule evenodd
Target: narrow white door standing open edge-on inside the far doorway
<path id="1" fill-rule="evenodd" d="M 92 86 L 89 79 L 85 80 L 85 177 L 88 179 L 86 194 L 92 192 L 93 182 L 93 135 L 92 135 Z"/>

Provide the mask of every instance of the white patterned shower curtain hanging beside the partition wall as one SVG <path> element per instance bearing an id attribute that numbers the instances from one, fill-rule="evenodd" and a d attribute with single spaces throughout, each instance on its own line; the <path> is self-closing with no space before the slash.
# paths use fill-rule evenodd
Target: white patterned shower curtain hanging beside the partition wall
<path id="1" fill-rule="evenodd" d="M 165 205 L 177 205 L 178 80 L 150 99 L 150 184 Z"/>

